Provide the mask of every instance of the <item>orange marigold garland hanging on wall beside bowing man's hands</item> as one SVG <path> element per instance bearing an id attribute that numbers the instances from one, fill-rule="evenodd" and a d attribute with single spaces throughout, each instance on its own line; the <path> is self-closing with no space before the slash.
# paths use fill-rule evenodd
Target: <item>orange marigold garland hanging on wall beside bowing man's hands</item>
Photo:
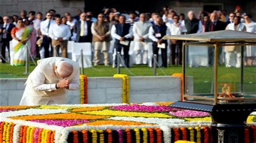
<path id="1" fill-rule="evenodd" d="M 88 80 L 86 75 L 80 75 L 80 103 L 88 103 Z"/>

